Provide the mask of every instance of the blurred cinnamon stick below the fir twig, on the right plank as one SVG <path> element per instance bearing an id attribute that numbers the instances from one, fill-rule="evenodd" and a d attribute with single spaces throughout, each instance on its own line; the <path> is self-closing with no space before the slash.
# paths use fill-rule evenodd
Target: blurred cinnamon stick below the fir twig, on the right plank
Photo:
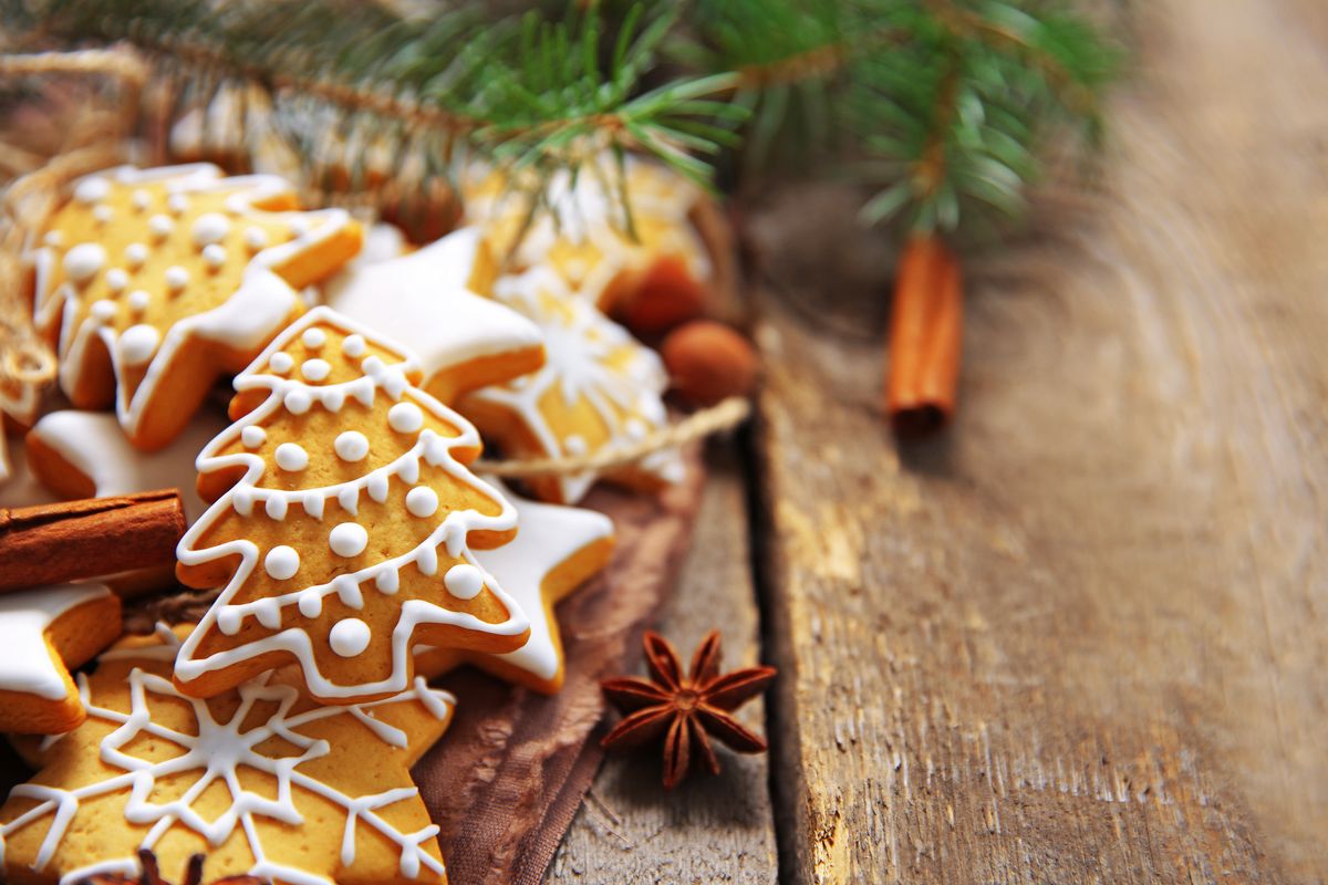
<path id="1" fill-rule="evenodd" d="M 886 411 L 895 433 L 919 437 L 955 414 L 963 345 L 959 260 L 938 236 L 911 239 L 895 273 Z"/>

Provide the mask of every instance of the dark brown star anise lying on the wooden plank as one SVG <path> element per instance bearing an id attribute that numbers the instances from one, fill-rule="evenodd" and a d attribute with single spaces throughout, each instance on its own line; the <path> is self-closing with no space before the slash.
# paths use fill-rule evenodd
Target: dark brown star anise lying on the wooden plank
<path id="1" fill-rule="evenodd" d="M 619 677 L 600 683 L 604 695 L 627 714 L 600 742 L 606 750 L 639 747 L 664 735 L 664 787 L 672 789 L 693 764 L 712 775 L 720 760 L 710 739 L 738 752 L 764 752 L 761 735 L 729 715 L 774 679 L 774 667 L 748 667 L 720 675 L 720 633 L 706 636 L 683 674 L 683 662 L 668 640 L 645 632 L 649 679 Z"/>

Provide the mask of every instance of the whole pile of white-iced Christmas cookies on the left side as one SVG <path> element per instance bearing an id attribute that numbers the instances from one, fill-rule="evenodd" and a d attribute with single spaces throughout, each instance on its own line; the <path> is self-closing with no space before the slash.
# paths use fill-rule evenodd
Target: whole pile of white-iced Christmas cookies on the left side
<path id="1" fill-rule="evenodd" d="M 657 357 L 602 308 L 708 265 L 683 188 L 632 174 L 639 240 L 563 187 L 567 216 L 517 245 L 482 175 L 470 226 L 421 248 L 271 175 L 74 183 L 31 252 L 58 393 L 0 399 L 25 431 L 0 504 L 178 487 L 190 524 L 165 580 L 0 594 L 0 728 L 36 770 L 0 808 L 9 881 L 133 874 L 143 849 L 208 878 L 446 880 L 409 775 L 453 715 L 430 681 L 558 691 L 552 606 L 614 545 L 572 504 L 681 478 L 667 450 L 531 499 L 471 470 L 486 444 L 575 459 L 665 426 Z M 197 622 L 122 636 L 124 596 L 181 585 L 211 600 Z"/>

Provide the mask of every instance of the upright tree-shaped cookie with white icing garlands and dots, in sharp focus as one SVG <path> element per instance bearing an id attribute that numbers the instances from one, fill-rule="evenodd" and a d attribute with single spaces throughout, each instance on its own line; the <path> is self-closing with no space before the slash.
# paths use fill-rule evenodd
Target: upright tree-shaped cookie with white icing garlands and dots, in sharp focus
<path id="1" fill-rule="evenodd" d="M 321 306 L 235 379 L 235 425 L 198 456 L 215 499 L 178 549 L 179 579 L 224 584 L 175 682 L 210 697 L 299 663 L 349 703 L 410 685 L 416 642 L 513 651 L 529 622 L 471 548 L 517 512 L 465 464 L 475 429 L 414 385 L 413 357 Z"/>

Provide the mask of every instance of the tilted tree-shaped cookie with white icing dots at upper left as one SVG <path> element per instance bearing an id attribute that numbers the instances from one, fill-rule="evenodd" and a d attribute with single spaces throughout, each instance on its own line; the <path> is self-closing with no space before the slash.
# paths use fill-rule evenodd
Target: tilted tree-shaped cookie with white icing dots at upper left
<path id="1" fill-rule="evenodd" d="M 359 249 L 345 211 L 295 206 L 276 176 L 208 165 L 81 179 L 35 255 L 35 318 L 74 406 L 114 403 L 138 448 L 174 439 L 214 378 L 299 316 L 296 289 Z"/>

